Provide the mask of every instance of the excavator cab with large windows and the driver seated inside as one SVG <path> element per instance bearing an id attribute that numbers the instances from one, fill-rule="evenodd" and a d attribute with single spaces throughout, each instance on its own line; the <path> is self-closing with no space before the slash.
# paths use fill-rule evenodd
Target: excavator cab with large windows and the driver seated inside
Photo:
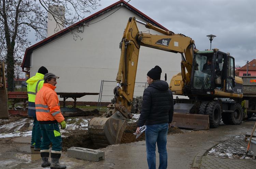
<path id="1" fill-rule="evenodd" d="M 205 99 L 230 98 L 233 93 L 242 93 L 241 82 L 235 80 L 234 58 L 229 53 L 218 49 L 197 51 L 192 70 L 188 95 L 201 95 Z"/>

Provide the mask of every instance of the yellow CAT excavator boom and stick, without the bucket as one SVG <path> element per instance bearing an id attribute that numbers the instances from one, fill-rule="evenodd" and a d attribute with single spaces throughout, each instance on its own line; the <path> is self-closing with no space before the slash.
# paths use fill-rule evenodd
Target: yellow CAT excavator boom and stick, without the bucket
<path id="1" fill-rule="evenodd" d="M 153 29 L 165 35 L 152 35 L 139 32 L 137 22 L 145 25 L 146 28 Z M 153 26 L 150 23 L 136 20 L 135 17 L 130 17 L 122 42 L 120 43 L 121 56 L 116 76 L 117 87 L 114 89 L 117 103 L 120 101 L 122 106 L 125 106 L 129 112 L 131 110 L 140 46 L 181 53 L 181 70 L 184 84 L 188 84 L 191 77 L 194 40 L 185 35 L 175 34 L 171 31 Z M 188 72 L 188 77 L 186 77 L 185 68 Z M 121 81 L 122 85 L 120 86 Z"/>

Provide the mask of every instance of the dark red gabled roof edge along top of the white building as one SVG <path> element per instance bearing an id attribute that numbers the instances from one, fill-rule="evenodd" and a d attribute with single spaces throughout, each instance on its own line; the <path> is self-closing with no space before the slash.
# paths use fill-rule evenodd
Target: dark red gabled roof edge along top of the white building
<path id="1" fill-rule="evenodd" d="M 45 44 L 47 44 L 48 42 L 51 42 L 53 41 L 54 39 L 62 36 L 63 34 L 66 34 L 68 32 L 70 32 L 72 29 L 80 26 L 80 25 L 83 25 L 84 23 L 86 22 L 89 22 L 103 14 L 105 14 L 106 12 L 109 12 L 113 9 L 115 9 L 116 7 L 119 7 L 123 5 L 124 7 L 126 7 L 128 10 L 130 10 L 131 12 L 137 14 L 138 16 L 142 17 L 144 20 L 146 20 L 147 22 L 151 23 L 152 25 L 154 26 L 157 26 L 161 29 L 164 29 L 164 30 L 167 30 L 165 27 L 163 27 L 162 25 L 158 24 L 155 20 L 151 19 L 150 17 L 148 17 L 147 15 L 145 15 L 144 13 L 142 13 L 141 11 L 137 10 L 135 7 L 133 7 L 132 5 L 128 4 L 126 1 L 124 0 L 120 0 L 106 8 L 104 8 L 103 10 L 93 14 L 93 15 L 90 15 L 88 16 L 87 18 L 84 18 L 83 20 L 79 21 L 79 22 L 76 22 L 75 24 L 71 25 L 70 27 L 66 28 L 66 29 L 63 29 L 62 31 L 59 31 L 55 34 L 53 34 L 52 36 L 49 36 L 47 37 L 46 39 L 28 47 L 25 51 L 25 55 L 24 55 L 24 58 L 23 58 L 23 62 L 22 62 L 22 65 L 21 67 L 24 68 L 24 67 L 30 67 L 30 54 L 32 53 L 32 51 L 34 49 L 37 49 Z"/>

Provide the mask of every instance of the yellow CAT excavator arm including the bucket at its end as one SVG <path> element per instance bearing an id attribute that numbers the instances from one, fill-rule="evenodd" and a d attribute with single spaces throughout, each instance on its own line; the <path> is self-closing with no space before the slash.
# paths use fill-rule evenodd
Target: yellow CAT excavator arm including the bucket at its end
<path id="1" fill-rule="evenodd" d="M 137 22 L 164 35 L 139 32 Z M 108 111 L 102 117 L 91 119 L 88 125 L 90 137 L 97 147 L 120 143 L 126 127 L 126 119 L 132 118 L 130 111 L 140 46 L 181 53 L 183 86 L 190 82 L 194 41 L 183 34 L 174 34 L 130 17 L 120 42 L 121 55 L 116 76 L 117 86 L 114 88 L 116 103 L 110 104 Z M 185 69 L 188 72 L 187 75 Z"/>

